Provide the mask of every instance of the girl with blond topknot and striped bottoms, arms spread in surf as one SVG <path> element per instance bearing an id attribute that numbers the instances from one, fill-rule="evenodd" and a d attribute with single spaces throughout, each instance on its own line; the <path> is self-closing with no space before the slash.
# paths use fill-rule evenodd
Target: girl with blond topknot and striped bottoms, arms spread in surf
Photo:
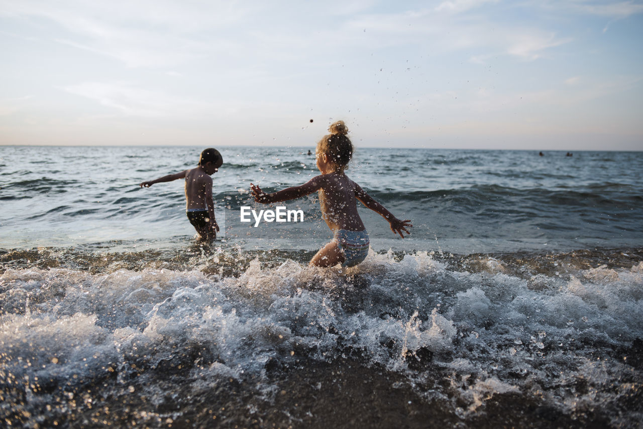
<path id="1" fill-rule="evenodd" d="M 390 224 L 393 233 L 398 233 L 402 238 L 403 232 L 410 233 L 406 228 L 413 225 L 408 219 L 397 219 L 346 176 L 344 170 L 352 157 L 353 145 L 347 136 L 349 129 L 344 122 L 333 123 L 328 131 L 331 134 L 323 136 L 317 143 L 316 158 L 320 176 L 303 185 L 285 188 L 272 194 L 266 194 L 261 188 L 250 183 L 251 191 L 255 201 L 263 204 L 295 199 L 318 191 L 321 216 L 331 228 L 333 239 L 312 257 L 310 264 L 329 267 L 341 263 L 344 267 L 352 267 L 366 258 L 369 244 L 368 233 L 358 214 L 356 199 L 382 215 Z"/>

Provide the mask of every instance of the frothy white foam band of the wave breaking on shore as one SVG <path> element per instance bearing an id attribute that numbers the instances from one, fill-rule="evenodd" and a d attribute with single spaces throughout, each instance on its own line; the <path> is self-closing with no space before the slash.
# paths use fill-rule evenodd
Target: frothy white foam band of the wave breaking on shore
<path id="1" fill-rule="evenodd" d="M 540 278 L 538 288 L 502 270 L 452 271 L 428 254 L 372 253 L 342 273 L 264 265 L 253 260 L 239 277 L 7 269 L 0 372 L 27 389 L 111 374 L 126 383 L 163 362 L 206 379 L 262 377 L 271 360 L 330 361 L 352 349 L 411 381 L 434 378 L 434 392 L 467 404 L 463 415 L 507 392 L 565 410 L 596 406 L 636 378 L 622 350 L 643 337 L 643 263 Z M 583 394 L 579 379 L 591 385 Z"/>

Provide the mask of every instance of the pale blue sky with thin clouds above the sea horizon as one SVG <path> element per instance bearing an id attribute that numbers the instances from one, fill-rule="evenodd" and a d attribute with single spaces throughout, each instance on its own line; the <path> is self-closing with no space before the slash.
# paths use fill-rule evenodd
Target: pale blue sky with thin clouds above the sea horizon
<path id="1" fill-rule="evenodd" d="M 642 42 L 639 0 L 0 0 L 0 145 L 641 151 Z"/>

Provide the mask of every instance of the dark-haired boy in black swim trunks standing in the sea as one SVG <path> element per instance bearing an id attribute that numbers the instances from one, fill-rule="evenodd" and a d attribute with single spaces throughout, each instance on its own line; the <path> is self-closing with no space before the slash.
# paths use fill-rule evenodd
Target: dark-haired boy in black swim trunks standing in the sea
<path id="1" fill-rule="evenodd" d="M 199 233 L 200 239 L 210 241 L 217 238 L 217 232 L 219 232 L 219 225 L 214 219 L 212 178 L 210 176 L 219 170 L 222 163 L 223 158 L 219 151 L 210 147 L 201 152 L 197 168 L 143 182 L 141 188 L 149 188 L 154 183 L 185 178 L 186 214 L 194 229 Z"/>

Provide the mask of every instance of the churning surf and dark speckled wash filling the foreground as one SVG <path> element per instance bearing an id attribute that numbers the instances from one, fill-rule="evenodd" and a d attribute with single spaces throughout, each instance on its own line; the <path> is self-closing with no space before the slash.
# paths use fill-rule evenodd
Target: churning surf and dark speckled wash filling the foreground
<path id="1" fill-rule="evenodd" d="M 5 421 L 340 424 L 349 411 L 332 395 L 353 398 L 363 426 L 385 396 L 472 427 L 499 424 L 490 416 L 509 408 L 527 425 L 628 426 L 641 412 L 640 260 L 533 280 L 546 270 L 512 272 L 515 255 L 493 256 L 500 272 L 462 269 L 457 256 L 370 253 L 339 273 L 248 252 L 231 275 L 214 267 L 221 254 L 140 253 L 168 268 L 119 266 L 131 257 L 114 254 L 95 273 L 5 269 Z"/>

